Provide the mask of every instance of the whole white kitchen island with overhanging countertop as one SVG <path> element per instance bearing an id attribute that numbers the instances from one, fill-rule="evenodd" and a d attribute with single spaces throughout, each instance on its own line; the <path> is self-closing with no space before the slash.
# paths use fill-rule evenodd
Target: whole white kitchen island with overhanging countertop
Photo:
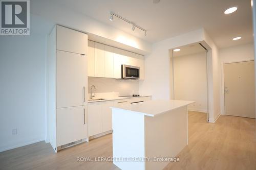
<path id="1" fill-rule="evenodd" d="M 191 103 L 155 100 L 111 107 L 113 163 L 123 170 L 163 169 L 188 143 Z"/>

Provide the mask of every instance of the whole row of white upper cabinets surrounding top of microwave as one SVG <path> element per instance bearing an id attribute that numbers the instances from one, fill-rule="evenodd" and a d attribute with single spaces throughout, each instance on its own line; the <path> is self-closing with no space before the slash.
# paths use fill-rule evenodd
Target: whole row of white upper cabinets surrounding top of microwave
<path id="1" fill-rule="evenodd" d="M 121 65 L 140 67 L 144 79 L 144 56 L 98 42 L 88 41 L 88 76 L 121 79 Z"/>

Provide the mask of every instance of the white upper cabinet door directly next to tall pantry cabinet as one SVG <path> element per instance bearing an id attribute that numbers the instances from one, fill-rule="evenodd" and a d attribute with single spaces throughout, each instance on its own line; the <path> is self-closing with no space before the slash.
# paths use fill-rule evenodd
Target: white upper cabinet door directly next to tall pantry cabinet
<path id="1" fill-rule="evenodd" d="M 88 41 L 88 77 L 95 76 L 95 42 Z"/>

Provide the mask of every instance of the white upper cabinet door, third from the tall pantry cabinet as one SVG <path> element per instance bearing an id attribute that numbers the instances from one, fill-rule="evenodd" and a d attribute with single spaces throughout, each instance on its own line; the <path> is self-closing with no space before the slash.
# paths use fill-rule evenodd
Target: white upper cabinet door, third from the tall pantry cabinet
<path id="1" fill-rule="evenodd" d="M 105 45 L 105 77 L 114 78 L 113 47 Z"/>

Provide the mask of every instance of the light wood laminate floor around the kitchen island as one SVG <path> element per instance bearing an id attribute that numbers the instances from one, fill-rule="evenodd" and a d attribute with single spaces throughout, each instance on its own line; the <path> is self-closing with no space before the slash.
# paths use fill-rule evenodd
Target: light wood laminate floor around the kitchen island
<path id="1" fill-rule="evenodd" d="M 188 114 L 188 145 L 180 162 L 167 169 L 256 169 L 255 119 L 221 115 L 215 124 L 206 115 Z M 0 153 L 0 169 L 119 169 L 112 162 L 77 162 L 77 157 L 111 157 L 112 135 L 55 154 L 49 143 L 38 142 Z"/>

